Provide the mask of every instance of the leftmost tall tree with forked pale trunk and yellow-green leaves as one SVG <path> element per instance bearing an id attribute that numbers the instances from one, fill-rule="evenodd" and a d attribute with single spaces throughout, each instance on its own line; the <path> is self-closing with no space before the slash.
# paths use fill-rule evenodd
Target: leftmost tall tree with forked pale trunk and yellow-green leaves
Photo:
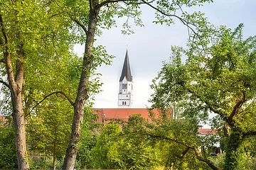
<path id="1" fill-rule="evenodd" d="M 11 92 L 11 115 L 14 118 L 18 169 L 29 169 L 25 116 L 31 113 L 33 106 L 30 104 L 33 103 L 24 102 L 24 96 L 26 100 L 29 91 L 36 91 L 36 82 L 43 80 L 40 79 L 43 67 L 38 66 L 46 66 L 44 61 L 51 60 L 50 57 L 53 56 L 60 59 L 55 45 L 57 42 L 68 40 L 63 36 L 61 40 L 58 39 L 59 32 L 69 33 L 68 24 L 63 24 L 65 15 L 58 17 L 60 11 L 55 4 L 48 1 L 4 0 L 0 4 L 0 54 L 3 55 L 1 83 Z M 69 48 L 62 50 L 67 52 Z M 37 69 L 33 69 L 34 66 L 37 66 Z M 31 77 L 38 79 L 25 81 Z M 30 86 L 32 81 L 33 87 Z M 8 94 L 7 91 L 4 93 Z M 42 94 L 42 91 L 39 94 Z M 25 111 L 23 106 L 26 106 Z"/>

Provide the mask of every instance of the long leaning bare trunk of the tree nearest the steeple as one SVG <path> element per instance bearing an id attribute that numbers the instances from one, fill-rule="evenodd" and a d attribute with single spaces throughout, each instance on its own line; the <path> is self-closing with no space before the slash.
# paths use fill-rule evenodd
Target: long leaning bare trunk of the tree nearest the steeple
<path id="1" fill-rule="evenodd" d="M 93 3 L 93 4 L 91 4 Z M 68 149 L 66 150 L 65 160 L 63 164 L 63 169 L 73 170 L 75 166 L 75 159 L 78 153 L 78 140 L 80 138 L 81 124 L 84 115 L 85 101 L 88 98 L 88 80 L 90 77 L 90 67 L 92 64 L 93 56 L 93 42 L 95 36 L 95 28 L 97 24 L 97 16 L 99 9 L 95 8 L 97 4 L 96 1 L 90 1 L 90 20 L 87 30 L 87 37 L 85 42 L 85 55 L 82 62 L 82 73 L 80 77 L 80 83 L 78 87 L 77 98 L 74 103 L 74 117 L 72 124 L 72 132 L 70 135 L 70 142 Z"/>

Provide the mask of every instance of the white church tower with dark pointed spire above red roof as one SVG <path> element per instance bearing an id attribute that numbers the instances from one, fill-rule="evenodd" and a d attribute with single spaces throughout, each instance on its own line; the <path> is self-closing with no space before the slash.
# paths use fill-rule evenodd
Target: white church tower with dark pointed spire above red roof
<path id="1" fill-rule="evenodd" d="M 124 66 L 119 79 L 118 108 L 132 108 L 132 73 L 129 66 L 128 50 L 124 58 Z"/>

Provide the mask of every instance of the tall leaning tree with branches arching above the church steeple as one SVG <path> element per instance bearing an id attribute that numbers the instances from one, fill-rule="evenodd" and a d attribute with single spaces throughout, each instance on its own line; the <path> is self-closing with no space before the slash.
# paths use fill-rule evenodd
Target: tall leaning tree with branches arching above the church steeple
<path id="1" fill-rule="evenodd" d="M 78 94 L 74 103 L 74 118 L 73 128 L 70 135 L 70 143 L 65 155 L 65 162 L 63 169 L 73 169 L 75 165 L 75 158 L 77 155 L 78 140 L 80 138 L 81 123 L 83 120 L 83 113 L 85 103 L 88 99 L 88 93 L 90 92 L 90 77 L 91 72 L 97 65 L 93 64 L 98 59 L 96 50 L 93 47 L 95 41 L 95 33 L 99 31 L 99 28 L 110 28 L 114 26 L 114 16 L 128 18 L 134 18 L 137 25 L 142 26 L 142 22 L 139 19 L 141 11 L 139 7 L 142 4 L 150 6 L 156 10 L 156 23 L 166 23 L 170 25 L 174 23 L 174 18 L 177 18 L 188 28 L 193 29 L 193 26 L 201 24 L 202 13 L 186 13 L 183 12 L 182 6 L 200 6 L 205 2 L 212 2 L 212 0 L 177 0 L 177 1 L 133 1 L 133 0 L 105 0 L 105 1 L 66 1 L 68 6 L 68 13 L 70 18 L 78 24 L 82 34 L 86 37 L 85 40 L 85 52 L 82 62 L 82 72 L 80 76 L 80 84 L 78 87 Z M 80 4 L 80 5 L 79 5 Z M 177 16 L 176 12 L 179 11 L 181 16 Z M 82 16 L 80 14 L 83 14 Z M 124 23 L 124 33 L 131 33 L 130 26 Z M 96 55 L 95 55 L 96 54 Z M 107 55 L 105 55 L 107 57 Z M 105 58 L 106 59 L 106 58 Z M 100 62 L 105 62 L 100 60 Z M 98 64 L 98 62 L 96 62 Z"/>

